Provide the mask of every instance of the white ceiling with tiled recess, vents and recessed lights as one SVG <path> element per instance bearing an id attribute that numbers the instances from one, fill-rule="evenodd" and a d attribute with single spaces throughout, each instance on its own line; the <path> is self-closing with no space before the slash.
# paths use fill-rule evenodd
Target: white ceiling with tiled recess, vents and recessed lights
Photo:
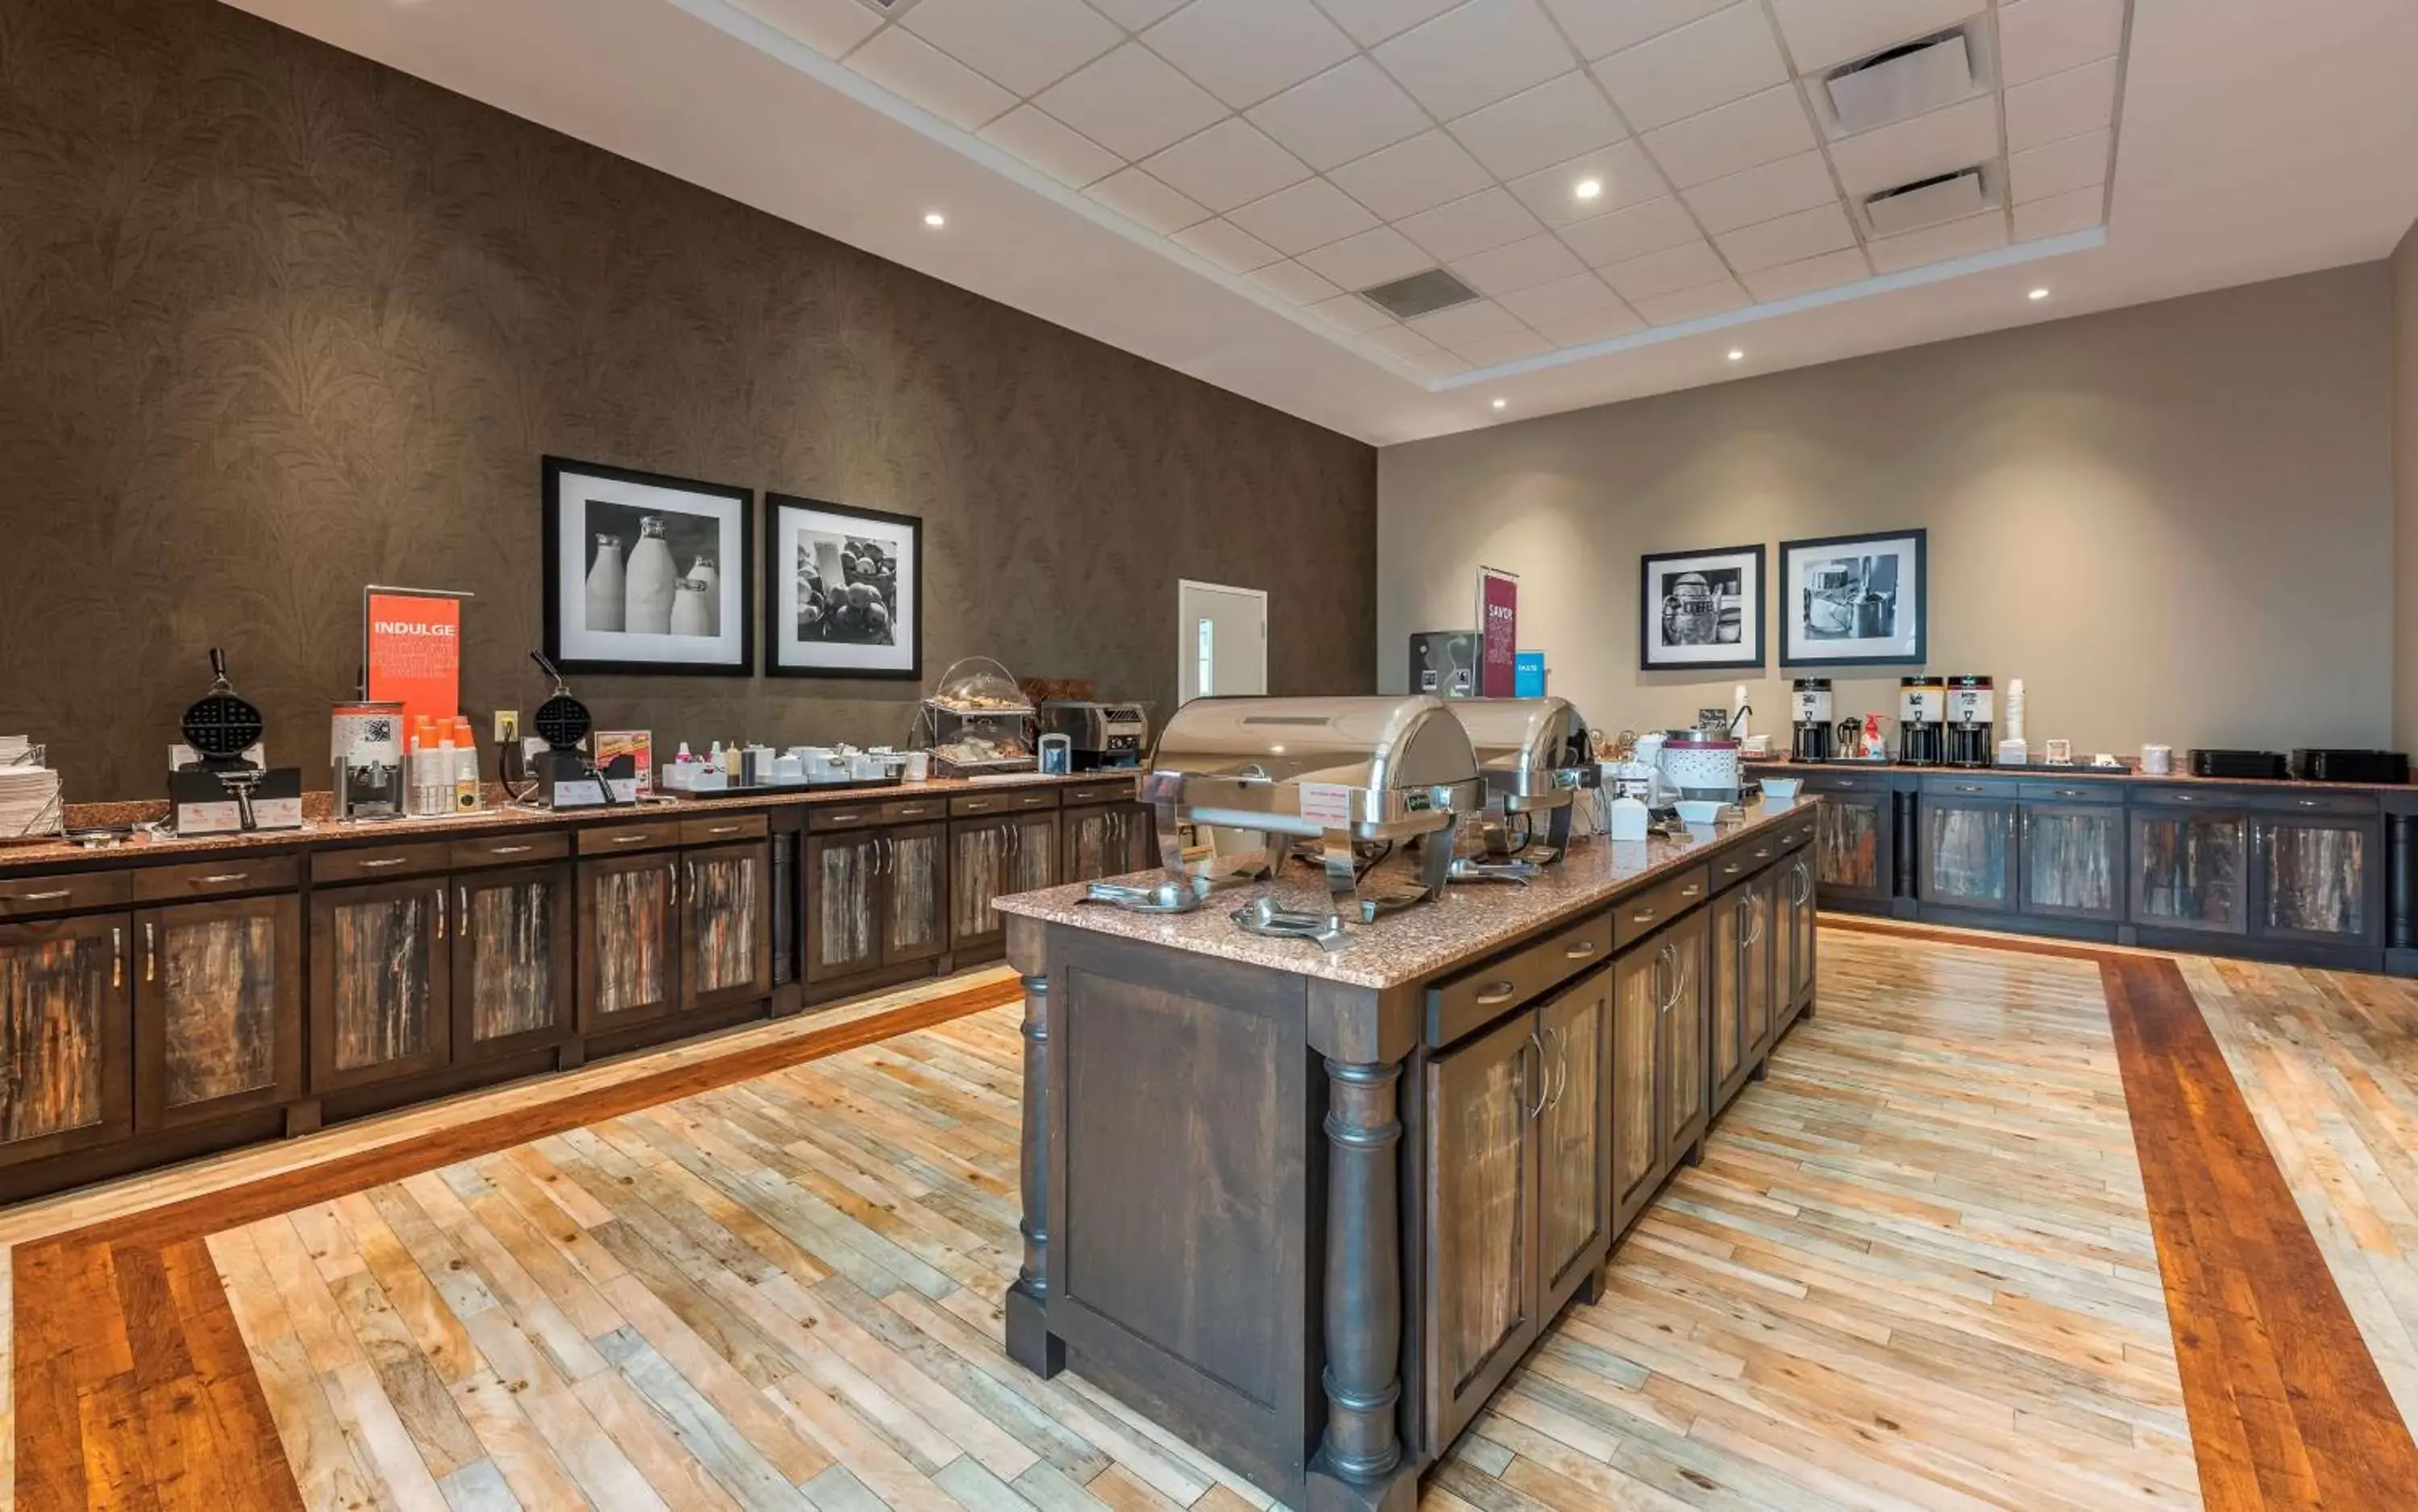
<path id="1" fill-rule="evenodd" d="M 2411 0 L 230 2 L 1378 443 L 2418 213 Z M 1830 68 L 1959 24 L 1971 90 L 1838 128 Z M 1872 235 L 1867 194 L 1976 165 L 1978 213 Z M 1482 298 L 1349 293 L 1439 264 Z"/>

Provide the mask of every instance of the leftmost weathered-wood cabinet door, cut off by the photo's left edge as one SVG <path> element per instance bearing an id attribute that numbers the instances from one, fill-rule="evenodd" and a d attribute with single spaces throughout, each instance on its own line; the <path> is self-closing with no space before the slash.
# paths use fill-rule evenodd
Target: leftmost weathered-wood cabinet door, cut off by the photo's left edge
<path id="1" fill-rule="evenodd" d="M 131 929 L 0 924 L 0 1164 L 133 1132 Z"/>

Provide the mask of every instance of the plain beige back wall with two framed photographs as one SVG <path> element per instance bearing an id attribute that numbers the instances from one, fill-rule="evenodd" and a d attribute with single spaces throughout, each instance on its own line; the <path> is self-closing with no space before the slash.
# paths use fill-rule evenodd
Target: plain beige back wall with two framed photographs
<path id="1" fill-rule="evenodd" d="M 2036 748 L 2384 743 L 2389 314 L 2367 264 L 1386 448 L 1378 685 L 1485 561 L 1591 723 L 1743 677 L 1784 728 L 1777 627 L 1760 675 L 1637 670 L 1637 556 L 1763 542 L 1777 573 L 1780 539 L 1922 525 L 1930 670 L 2024 677 Z M 1838 711 L 1893 711 L 1898 673 L 1833 673 Z"/>

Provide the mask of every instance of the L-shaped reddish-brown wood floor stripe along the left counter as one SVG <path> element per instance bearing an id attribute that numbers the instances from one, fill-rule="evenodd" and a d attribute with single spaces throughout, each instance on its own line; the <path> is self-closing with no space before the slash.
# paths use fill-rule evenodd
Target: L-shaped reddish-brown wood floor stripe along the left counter
<path id="1" fill-rule="evenodd" d="M 965 987 L 17 1246 L 19 1512 L 300 1512 L 268 1398 L 203 1243 L 208 1234 L 1018 997 L 1013 980 Z"/>

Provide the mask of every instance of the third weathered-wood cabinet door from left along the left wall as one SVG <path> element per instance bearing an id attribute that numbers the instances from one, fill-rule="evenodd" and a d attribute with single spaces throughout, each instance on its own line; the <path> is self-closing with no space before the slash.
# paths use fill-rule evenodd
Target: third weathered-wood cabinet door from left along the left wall
<path id="1" fill-rule="evenodd" d="M 450 912 L 442 873 L 312 890 L 312 1091 L 433 1072 L 450 1060 Z"/>

